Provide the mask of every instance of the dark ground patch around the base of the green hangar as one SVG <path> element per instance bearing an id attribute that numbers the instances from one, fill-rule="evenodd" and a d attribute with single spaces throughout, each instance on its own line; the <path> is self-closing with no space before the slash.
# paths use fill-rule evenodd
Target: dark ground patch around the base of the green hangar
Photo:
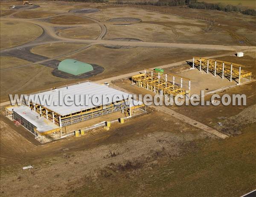
<path id="1" fill-rule="evenodd" d="M 62 71 L 58 70 L 58 66 L 56 65 L 55 69 L 52 71 L 52 75 L 54 75 L 55 77 L 60 77 L 60 78 L 77 79 L 77 78 L 93 77 L 93 76 L 98 75 L 98 74 L 100 74 L 104 71 L 104 68 L 97 65 L 97 64 L 90 64 L 90 65 L 93 66 L 93 71 L 86 72 L 86 73 L 81 74 L 81 75 L 72 75 L 72 74 L 69 74 L 67 72 L 62 72 Z"/>

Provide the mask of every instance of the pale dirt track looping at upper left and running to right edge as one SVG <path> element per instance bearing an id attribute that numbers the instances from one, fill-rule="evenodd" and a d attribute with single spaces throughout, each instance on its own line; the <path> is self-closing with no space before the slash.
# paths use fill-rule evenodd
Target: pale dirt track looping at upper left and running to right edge
<path id="1" fill-rule="evenodd" d="M 19 12 L 19 11 L 18 11 Z M 132 41 L 116 41 L 116 40 L 102 40 L 104 38 L 104 36 L 107 33 L 107 28 L 106 26 L 100 22 L 99 20 L 92 18 L 92 17 L 87 17 L 81 14 L 76 14 L 76 13 L 69 13 L 70 15 L 76 15 L 79 17 L 84 17 L 86 19 L 89 19 L 91 21 L 93 21 L 94 23 L 98 24 L 101 27 L 101 32 L 100 35 L 98 36 L 98 38 L 96 40 L 90 40 L 90 39 L 72 39 L 72 38 L 62 38 L 58 35 L 56 35 L 55 33 L 55 29 L 54 27 L 56 26 L 56 24 L 51 24 L 51 23 L 47 23 L 44 21 L 41 21 L 42 19 L 49 19 L 51 17 L 61 17 L 62 15 L 67 15 L 67 14 L 57 14 L 54 16 L 48 16 L 48 17 L 41 17 L 41 18 L 36 18 L 36 19 L 24 19 L 24 18 L 14 18 L 14 17 L 10 17 L 10 16 L 6 16 L 6 17 L 1 17 L 1 20 L 15 20 L 15 21 L 23 21 L 23 22 L 28 22 L 28 23 L 33 23 L 36 24 L 38 26 L 40 26 L 42 29 L 44 29 L 44 34 L 45 34 L 45 38 L 47 38 L 47 36 L 49 37 L 50 40 L 52 41 L 47 41 L 47 39 L 43 39 L 42 42 L 30 42 L 27 44 L 24 44 L 22 46 L 17 46 L 17 47 L 13 47 L 12 49 L 5 49 L 5 50 L 1 50 L 1 55 L 8 55 L 9 51 L 13 51 L 15 53 L 15 51 L 17 51 L 18 48 L 25 48 L 25 47 L 32 47 L 32 46 L 37 46 L 37 45 L 41 45 L 41 44 L 46 44 L 46 43 L 57 43 L 57 42 L 66 42 L 66 43 L 85 43 L 85 44 L 89 44 L 85 47 L 81 47 L 80 49 L 77 49 L 73 52 L 67 53 L 67 54 L 63 54 L 63 55 L 59 55 L 57 57 L 54 58 L 41 58 L 40 61 L 37 61 L 38 56 L 32 59 L 30 59 L 30 61 L 33 61 L 34 63 L 32 64 L 26 64 L 26 65 L 20 65 L 18 67 L 10 67 L 7 69 L 1 69 L 1 71 L 5 71 L 5 70 L 9 70 L 9 69 L 14 69 L 14 68 L 20 68 L 20 67 L 27 67 L 27 66 L 31 66 L 34 64 L 46 64 L 45 62 L 47 61 L 53 61 L 54 59 L 57 58 L 61 58 L 61 57 L 65 57 L 67 55 L 71 55 L 71 54 L 75 54 L 81 50 L 84 50 L 88 47 L 90 47 L 91 45 L 103 45 L 103 46 L 126 46 L 126 47 L 163 47 L 163 48 L 184 48 L 184 49 L 214 49 L 214 50 L 228 50 L 228 51 L 242 51 L 242 50 L 255 50 L 256 47 L 255 46 L 222 46 L 222 45 L 205 45 L 205 44 L 186 44 L 186 43 L 154 43 L 154 42 L 132 42 Z M 64 26 L 64 25 L 61 25 Z M 74 27 L 76 26 L 81 26 L 81 24 L 76 24 L 73 25 Z M 41 40 L 39 40 L 41 41 Z M 12 52 L 12 53 L 13 53 Z M 26 56 L 26 54 L 24 54 Z M 21 57 L 23 57 L 23 55 L 20 55 Z M 33 54 L 31 53 L 30 56 L 33 56 Z M 36 56 L 36 55 L 35 55 Z M 26 59 L 27 60 L 27 59 Z M 46 64 L 48 65 L 48 64 Z"/>

